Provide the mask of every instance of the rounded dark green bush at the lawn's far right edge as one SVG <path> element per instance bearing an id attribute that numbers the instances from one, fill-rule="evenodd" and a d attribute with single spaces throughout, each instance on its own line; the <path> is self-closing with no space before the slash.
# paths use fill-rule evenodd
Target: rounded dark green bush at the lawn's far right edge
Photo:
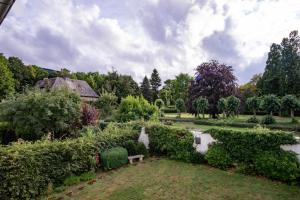
<path id="1" fill-rule="evenodd" d="M 268 178 L 292 182 L 300 177 L 300 163 L 292 152 L 265 151 L 255 159 L 256 171 Z"/>

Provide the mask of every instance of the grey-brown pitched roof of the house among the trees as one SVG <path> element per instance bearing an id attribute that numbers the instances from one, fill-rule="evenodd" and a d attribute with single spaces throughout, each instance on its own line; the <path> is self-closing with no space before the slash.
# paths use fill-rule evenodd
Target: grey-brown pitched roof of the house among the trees
<path id="1" fill-rule="evenodd" d="M 82 80 L 62 77 L 44 78 L 37 82 L 37 87 L 48 90 L 67 88 L 79 93 L 83 101 L 97 101 L 99 98 L 97 93 L 89 86 L 89 84 Z"/>

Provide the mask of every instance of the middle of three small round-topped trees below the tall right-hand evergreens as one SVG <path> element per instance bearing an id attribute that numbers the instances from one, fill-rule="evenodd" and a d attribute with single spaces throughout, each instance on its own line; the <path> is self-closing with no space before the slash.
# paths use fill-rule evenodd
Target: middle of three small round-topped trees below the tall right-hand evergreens
<path id="1" fill-rule="evenodd" d="M 279 111 L 280 100 L 273 94 L 265 95 L 261 102 L 261 108 L 272 116 L 274 112 Z"/>

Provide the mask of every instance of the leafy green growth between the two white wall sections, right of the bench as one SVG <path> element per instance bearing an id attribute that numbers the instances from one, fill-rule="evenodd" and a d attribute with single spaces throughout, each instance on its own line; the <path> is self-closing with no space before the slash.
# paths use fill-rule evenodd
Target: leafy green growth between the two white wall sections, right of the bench
<path id="1" fill-rule="evenodd" d="M 191 162 L 194 137 L 188 130 L 153 124 L 146 126 L 146 133 L 151 141 L 150 153 Z"/>

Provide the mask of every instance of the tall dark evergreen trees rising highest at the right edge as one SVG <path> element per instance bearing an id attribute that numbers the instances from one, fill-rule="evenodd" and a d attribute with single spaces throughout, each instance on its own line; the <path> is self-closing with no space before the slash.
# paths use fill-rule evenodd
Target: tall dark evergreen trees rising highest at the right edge
<path id="1" fill-rule="evenodd" d="M 258 83 L 263 94 L 300 94 L 300 38 L 292 31 L 281 44 L 272 44 L 265 72 Z"/>

